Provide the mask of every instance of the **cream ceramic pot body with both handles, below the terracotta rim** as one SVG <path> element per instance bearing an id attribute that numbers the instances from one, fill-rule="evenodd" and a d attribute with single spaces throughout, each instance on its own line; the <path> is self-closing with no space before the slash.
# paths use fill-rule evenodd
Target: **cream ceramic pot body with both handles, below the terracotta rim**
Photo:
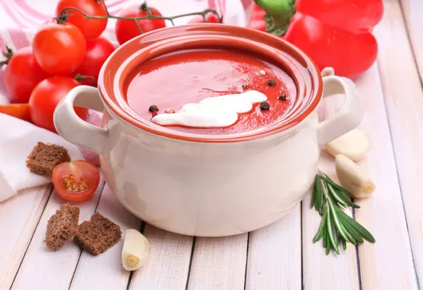
<path id="1" fill-rule="evenodd" d="M 54 122 L 63 138 L 100 153 L 107 183 L 140 219 L 179 234 L 228 236 L 266 226 L 298 205 L 314 182 L 319 145 L 360 123 L 363 109 L 350 80 L 329 75 L 323 90 L 319 97 L 345 95 L 332 119 L 319 123 L 316 107 L 290 128 L 239 142 L 143 130 L 86 86 L 63 99 Z M 104 111 L 102 128 L 78 119 L 73 105 Z"/>

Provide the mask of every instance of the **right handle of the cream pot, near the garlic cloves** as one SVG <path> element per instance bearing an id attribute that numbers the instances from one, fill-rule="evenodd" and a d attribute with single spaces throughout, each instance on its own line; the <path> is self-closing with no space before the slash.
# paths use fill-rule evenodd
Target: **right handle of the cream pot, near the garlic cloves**
<path id="1" fill-rule="evenodd" d="M 331 95 L 345 95 L 345 102 L 340 111 L 334 116 L 319 123 L 317 128 L 317 138 L 320 145 L 324 145 L 333 139 L 348 133 L 357 127 L 364 117 L 364 107 L 357 87 L 349 78 L 341 78 L 333 75 L 333 70 L 325 68 L 322 71 L 323 78 L 323 98 Z"/>

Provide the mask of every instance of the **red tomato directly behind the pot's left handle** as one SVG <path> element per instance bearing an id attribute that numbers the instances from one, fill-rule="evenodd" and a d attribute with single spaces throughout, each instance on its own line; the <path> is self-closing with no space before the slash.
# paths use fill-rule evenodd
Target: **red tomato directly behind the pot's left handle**
<path id="1" fill-rule="evenodd" d="M 32 122 L 41 128 L 57 133 L 53 123 L 54 109 L 61 99 L 78 85 L 80 85 L 78 81 L 67 76 L 55 76 L 42 80 L 32 91 L 30 97 Z M 88 117 L 88 110 L 85 108 L 75 107 L 75 112 L 81 119 L 86 120 Z"/>

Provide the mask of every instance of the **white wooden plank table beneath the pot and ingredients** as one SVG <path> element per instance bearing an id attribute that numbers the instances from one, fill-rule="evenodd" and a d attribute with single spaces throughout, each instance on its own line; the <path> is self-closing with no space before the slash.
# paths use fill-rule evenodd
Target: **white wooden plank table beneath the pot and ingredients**
<path id="1" fill-rule="evenodd" d="M 423 1 L 386 0 L 374 31 L 379 58 L 356 84 L 372 137 L 366 161 L 374 195 L 358 200 L 355 219 L 374 234 L 336 256 L 312 243 L 320 217 L 307 194 L 286 217 L 263 229 L 226 238 L 192 238 L 145 224 L 123 209 L 102 181 L 81 205 L 80 220 L 97 209 L 126 228 L 140 229 L 149 264 L 125 272 L 122 241 L 97 257 L 68 243 L 52 253 L 42 243 L 47 219 L 61 205 L 51 186 L 0 203 L 0 289 L 419 289 L 423 287 Z M 360 52 L 357 52 L 360 53 Z M 326 110 L 333 109 L 326 105 Z M 322 155 L 321 167 L 333 164 Z M 1 188 L 0 188 L 1 190 Z"/>

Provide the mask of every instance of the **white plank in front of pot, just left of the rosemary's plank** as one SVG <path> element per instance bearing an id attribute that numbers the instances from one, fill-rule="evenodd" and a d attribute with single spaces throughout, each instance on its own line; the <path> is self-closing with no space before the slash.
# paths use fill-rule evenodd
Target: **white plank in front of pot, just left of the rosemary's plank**
<path id="1" fill-rule="evenodd" d="M 301 289 L 301 205 L 250 233 L 245 289 Z"/>

